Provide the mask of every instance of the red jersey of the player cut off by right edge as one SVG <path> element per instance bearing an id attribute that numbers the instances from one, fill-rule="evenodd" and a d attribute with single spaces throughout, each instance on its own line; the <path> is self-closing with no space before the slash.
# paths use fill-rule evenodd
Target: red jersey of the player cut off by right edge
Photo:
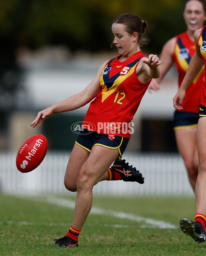
<path id="1" fill-rule="evenodd" d="M 198 39 L 198 46 L 199 46 L 199 50 L 201 52 L 202 58 L 204 60 L 204 66 L 206 66 L 206 26 L 202 28 L 201 34 Z M 205 77 L 205 81 L 206 81 L 206 77 Z M 205 83 L 204 83 L 203 92 L 201 95 L 200 104 L 206 107 L 206 84 Z"/>

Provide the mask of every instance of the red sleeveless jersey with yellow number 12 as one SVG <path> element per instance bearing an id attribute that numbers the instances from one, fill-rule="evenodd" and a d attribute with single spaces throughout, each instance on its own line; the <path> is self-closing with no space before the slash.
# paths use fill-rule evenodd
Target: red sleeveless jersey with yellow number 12
<path id="1" fill-rule="evenodd" d="M 88 122 L 93 131 L 130 138 L 134 131 L 131 120 L 136 113 L 151 80 L 143 84 L 136 75 L 139 60 L 145 55 L 140 51 L 127 60 L 111 59 L 104 67 L 100 78 L 100 91 L 90 103 L 83 127 Z"/>

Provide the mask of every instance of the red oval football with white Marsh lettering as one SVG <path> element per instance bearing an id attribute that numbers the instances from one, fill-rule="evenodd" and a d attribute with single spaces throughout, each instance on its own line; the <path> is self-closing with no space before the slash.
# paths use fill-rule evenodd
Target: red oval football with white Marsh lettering
<path id="1" fill-rule="evenodd" d="M 20 172 L 31 172 L 46 156 L 48 142 L 42 134 L 27 139 L 16 156 L 16 167 Z"/>

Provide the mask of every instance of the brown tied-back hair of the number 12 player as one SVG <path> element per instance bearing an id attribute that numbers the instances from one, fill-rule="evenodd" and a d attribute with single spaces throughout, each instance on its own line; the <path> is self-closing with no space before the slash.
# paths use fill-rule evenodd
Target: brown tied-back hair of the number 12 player
<path id="1" fill-rule="evenodd" d="M 113 23 L 120 23 L 125 25 L 125 30 L 132 35 L 134 32 L 138 34 L 139 46 L 145 46 L 149 43 L 150 39 L 144 35 L 147 28 L 147 22 L 142 20 L 139 16 L 133 13 L 124 13 L 119 15 Z M 115 44 L 112 41 L 110 47 L 114 47 Z"/>

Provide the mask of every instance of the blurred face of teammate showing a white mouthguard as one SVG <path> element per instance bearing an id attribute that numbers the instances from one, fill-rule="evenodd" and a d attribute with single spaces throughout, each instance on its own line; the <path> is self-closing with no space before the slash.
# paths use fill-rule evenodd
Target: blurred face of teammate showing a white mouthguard
<path id="1" fill-rule="evenodd" d="M 184 20 L 187 29 L 192 32 L 195 32 L 196 29 L 202 28 L 203 23 L 206 20 L 203 4 L 196 0 L 187 2 L 184 9 Z"/>

